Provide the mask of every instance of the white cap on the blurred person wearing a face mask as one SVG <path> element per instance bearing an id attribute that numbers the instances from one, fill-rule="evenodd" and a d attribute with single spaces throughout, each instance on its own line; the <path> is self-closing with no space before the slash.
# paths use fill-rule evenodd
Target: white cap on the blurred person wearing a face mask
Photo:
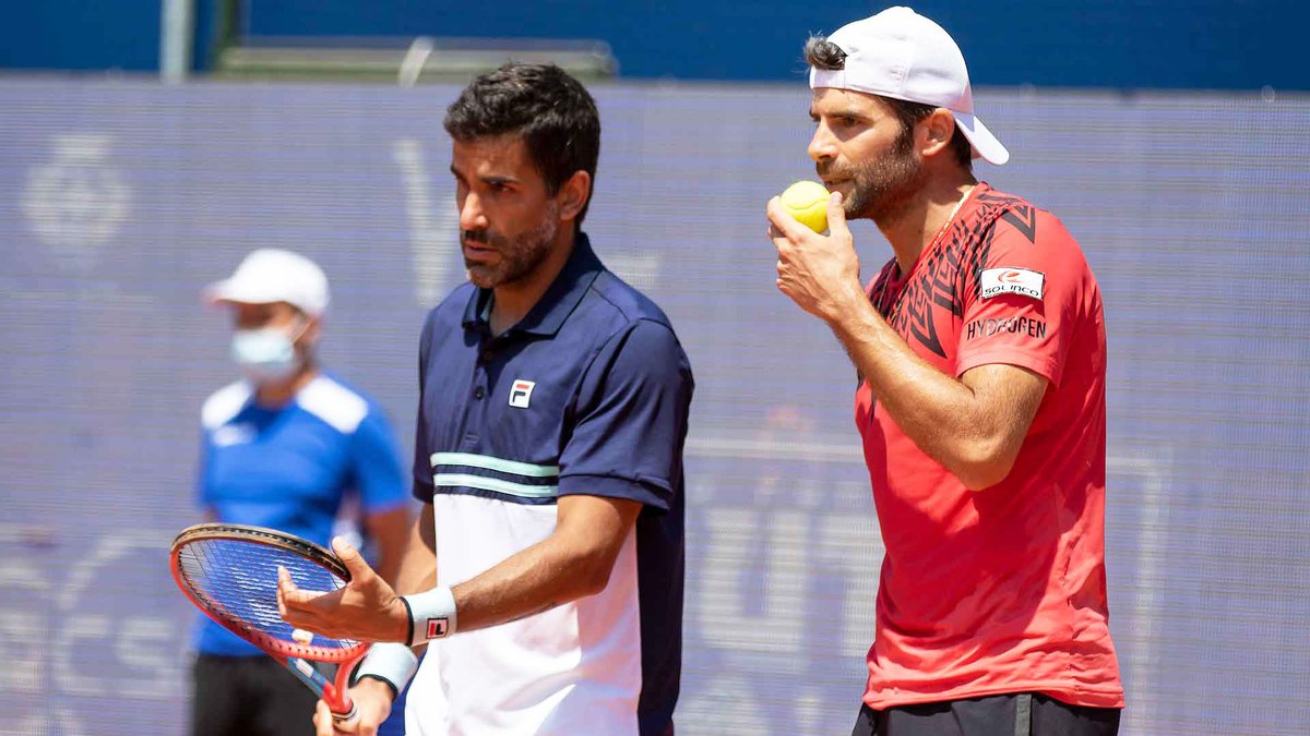
<path id="1" fill-rule="evenodd" d="M 310 317 L 328 310 L 328 276 L 317 263 L 290 250 L 262 248 L 246 255 L 231 276 L 204 288 L 214 304 L 286 301 Z"/>

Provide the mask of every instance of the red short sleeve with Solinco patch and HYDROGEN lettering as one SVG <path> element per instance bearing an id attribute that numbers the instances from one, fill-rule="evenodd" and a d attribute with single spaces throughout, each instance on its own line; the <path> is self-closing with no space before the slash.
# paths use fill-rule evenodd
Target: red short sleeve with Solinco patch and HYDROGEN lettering
<path id="1" fill-rule="evenodd" d="M 1031 206 L 996 220 L 964 289 L 955 375 L 986 364 L 1027 368 L 1058 385 L 1090 278 L 1078 244 Z"/>

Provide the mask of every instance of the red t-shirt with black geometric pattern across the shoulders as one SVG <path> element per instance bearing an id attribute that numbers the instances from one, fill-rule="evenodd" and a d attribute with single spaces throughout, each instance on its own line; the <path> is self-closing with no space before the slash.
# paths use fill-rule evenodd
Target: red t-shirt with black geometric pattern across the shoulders
<path id="1" fill-rule="evenodd" d="M 887 554 L 865 702 L 998 693 L 1123 707 L 1106 604 L 1106 329 L 1082 250 L 1049 212 L 980 183 L 909 274 L 870 299 L 954 377 L 1003 363 L 1049 381 L 1010 474 L 968 490 L 855 394 Z"/>

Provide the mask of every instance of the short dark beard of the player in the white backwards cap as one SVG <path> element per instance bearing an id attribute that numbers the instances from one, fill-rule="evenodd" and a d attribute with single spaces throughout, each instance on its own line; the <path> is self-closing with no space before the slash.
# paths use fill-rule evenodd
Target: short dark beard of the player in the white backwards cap
<path id="1" fill-rule="evenodd" d="M 832 169 L 820 170 L 832 175 Z M 892 148 L 880 158 L 861 161 L 837 178 L 849 178 L 850 196 L 844 203 L 846 219 L 869 219 L 878 225 L 895 221 L 924 187 L 924 161 L 914 156 L 913 128 L 903 128 Z"/>

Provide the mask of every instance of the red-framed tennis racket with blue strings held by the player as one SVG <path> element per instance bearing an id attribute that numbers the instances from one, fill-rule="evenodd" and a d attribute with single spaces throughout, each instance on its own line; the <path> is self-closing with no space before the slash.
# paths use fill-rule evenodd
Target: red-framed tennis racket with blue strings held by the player
<path id="1" fill-rule="evenodd" d="M 355 720 L 355 703 L 347 694 L 350 674 L 369 644 L 292 629 L 278 616 L 278 567 L 297 587 L 334 591 L 350 581 L 337 555 L 274 529 L 198 524 L 173 540 L 169 564 L 177 587 L 198 609 L 282 663 L 328 703 L 337 726 Z M 337 664 L 335 682 L 312 661 Z"/>

